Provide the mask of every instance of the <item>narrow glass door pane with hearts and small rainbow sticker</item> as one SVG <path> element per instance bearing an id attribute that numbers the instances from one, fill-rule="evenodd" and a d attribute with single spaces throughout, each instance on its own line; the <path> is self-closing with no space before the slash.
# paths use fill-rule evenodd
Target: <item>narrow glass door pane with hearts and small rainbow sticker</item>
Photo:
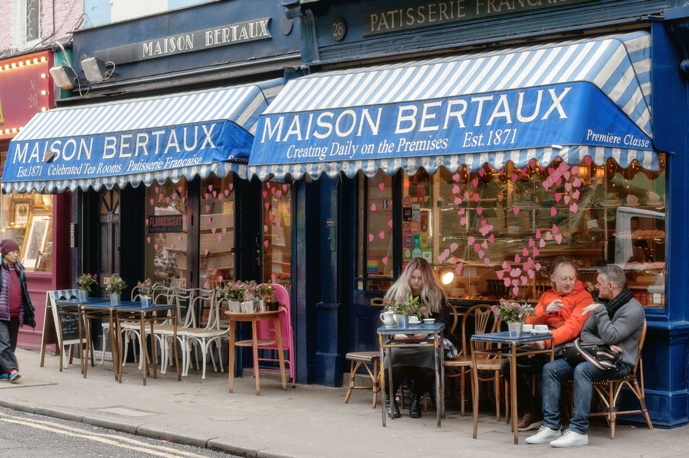
<path id="1" fill-rule="evenodd" d="M 393 272 L 392 177 L 359 173 L 357 287 L 385 291 Z"/>

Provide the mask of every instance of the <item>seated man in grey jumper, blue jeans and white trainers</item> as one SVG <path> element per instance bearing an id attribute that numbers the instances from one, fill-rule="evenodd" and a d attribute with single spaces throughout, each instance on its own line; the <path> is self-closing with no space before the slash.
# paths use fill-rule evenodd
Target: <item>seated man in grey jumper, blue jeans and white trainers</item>
<path id="1" fill-rule="evenodd" d="M 639 339 L 644 328 L 644 307 L 633 298 L 627 287 L 624 270 L 610 264 L 598 270 L 597 289 L 599 303 L 584 308 L 589 314 L 582 329 L 582 344 L 609 345 L 621 353 L 619 369 L 597 369 L 590 362 L 576 367 L 566 360 L 548 362 L 543 368 L 544 425 L 538 433 L 526 439 L 527 444 L 550 443 L 553 447 L 571 447 L 588 444 L 588 417 L 593 397 L 593 382 L 628 375 L 637 360 Z M 560 384 L 574 380 L 574 409 L 569 429 L 560 434 Z"/>

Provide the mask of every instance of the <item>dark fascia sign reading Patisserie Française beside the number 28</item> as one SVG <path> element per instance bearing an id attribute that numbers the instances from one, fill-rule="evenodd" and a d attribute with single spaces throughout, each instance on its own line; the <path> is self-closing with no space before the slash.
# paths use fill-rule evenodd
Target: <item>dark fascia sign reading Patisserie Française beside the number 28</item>
<path id="1" fill-rule="evenodd" d="M 363 34 L 375 35 L 590 0 L 438 0 L 411 2 L 364 13 Z"/>

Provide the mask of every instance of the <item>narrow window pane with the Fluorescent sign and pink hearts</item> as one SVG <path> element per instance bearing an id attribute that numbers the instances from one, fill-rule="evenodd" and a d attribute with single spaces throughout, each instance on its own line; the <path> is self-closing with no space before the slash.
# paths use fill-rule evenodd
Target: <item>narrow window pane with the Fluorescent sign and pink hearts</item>
<path id="1" fill-rule="evenodd" d="M 146 188 L 146 277 L 161 285 L 186 285 L 187 181 Z"/>

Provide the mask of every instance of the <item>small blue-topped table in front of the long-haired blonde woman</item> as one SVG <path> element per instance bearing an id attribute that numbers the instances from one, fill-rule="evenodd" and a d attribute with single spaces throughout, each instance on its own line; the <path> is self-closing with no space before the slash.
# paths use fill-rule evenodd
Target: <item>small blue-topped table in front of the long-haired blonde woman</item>
<path id="1" fill-rule="evenodd" d="M 432 347 L 435 358 L 433 358 L 435 367 L 435 416 L 438 419 L 438 428 L 440 428 L 440 417 L 445 413 L 445 370 L 444 370 L 444 341 L 442 331 L 444 323 L 434 323 L 433 325 L 426 325 L 420 323 L 418 325 L 409 325 L 409 327 L 387 327 L 381 326 L 378 328 L 378 348 L 380 350 L 380 383 L 385 386 L 385 364 L 384 364 L 384 349 L 393 348 L 424 348 Z M 419 340 L 393 340 L 395 334 L 405 334 L 411 336 L 413 334 L 428 334 L 426 338 Z M 393 393 L 392 382 L 392 364 L 388 364 L 388 375 L 390 377 L 390 393 L 389 400 L 392 406 L 395 393 Z M 382 408 L 383 426 L 385 426 L 386 408 Z M 393 409 L 390 409 L 391 414 Z M 390 415 L 391 419 L 395 415 Z"/>

